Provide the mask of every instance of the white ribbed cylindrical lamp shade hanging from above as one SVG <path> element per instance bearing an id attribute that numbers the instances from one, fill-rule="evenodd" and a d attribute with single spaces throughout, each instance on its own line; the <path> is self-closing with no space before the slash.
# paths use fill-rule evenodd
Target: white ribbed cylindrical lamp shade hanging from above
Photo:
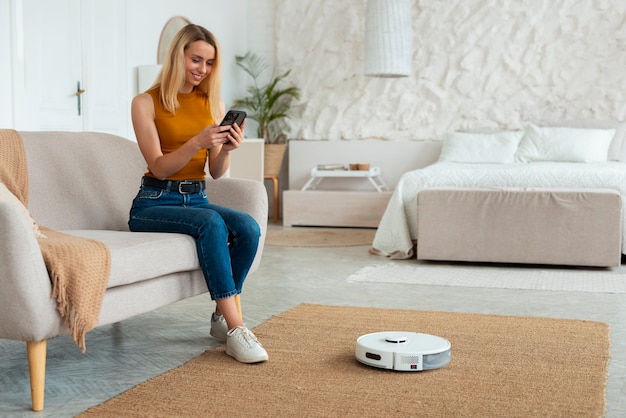
<path id="1" fill-rule="evenodd" d="M 410 0 L 367 0 L 365 75 L 408 77 L 412 37 Z"/>

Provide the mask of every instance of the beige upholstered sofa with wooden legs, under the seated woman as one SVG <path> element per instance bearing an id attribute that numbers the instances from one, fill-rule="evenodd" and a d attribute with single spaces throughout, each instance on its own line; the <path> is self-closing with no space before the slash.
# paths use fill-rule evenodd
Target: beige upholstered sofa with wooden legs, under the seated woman
<path id="1" fill-rule="evenodd" d="M 128 212 L 145 162 L 137 144 L 86 132 L 21 132 L 29 177 L 29 209 L 49 228 L 104 242 L 111 274 L 99 325 L 113 323 L 207 291 L 189 236 L 128 230 Z M 252 180 L 208 180 L 213 203 L 245 211 L 262 237 L 267 193 Z M 43 409 L 46 340 L 68 332 L 51 298 L 46 266 L 28 218 L 0 202 L 0 338 L 27 342 L 33 409 Z M 77 347 L 68 347 L 76 349 Z M 89 335 L 87 335 L 89 350 Z"/>

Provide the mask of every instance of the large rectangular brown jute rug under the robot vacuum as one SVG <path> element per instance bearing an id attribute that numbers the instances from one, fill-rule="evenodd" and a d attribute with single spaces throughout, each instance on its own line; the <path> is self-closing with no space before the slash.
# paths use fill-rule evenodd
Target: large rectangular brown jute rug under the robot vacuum
<path id="1" fill-rule="evenodd" d="M 355 360 L 357 337 L 439 335 L 452 361 L 396 372 Z M 270 361 L 237 363 L 224 347 L 80 417 L 599 417 L 609 361 L 600 322 L 300 305 L 254 332 Z"/>

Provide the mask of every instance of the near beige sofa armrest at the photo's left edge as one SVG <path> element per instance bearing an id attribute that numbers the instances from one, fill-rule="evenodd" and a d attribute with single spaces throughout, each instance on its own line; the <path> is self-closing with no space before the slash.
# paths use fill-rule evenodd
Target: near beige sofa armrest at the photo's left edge
<path id="1" fill-rule="evenodd" d="M 58 335 L 63 321 L 30 219 L 0 202 L 0 338 L 41 341 Z"/>

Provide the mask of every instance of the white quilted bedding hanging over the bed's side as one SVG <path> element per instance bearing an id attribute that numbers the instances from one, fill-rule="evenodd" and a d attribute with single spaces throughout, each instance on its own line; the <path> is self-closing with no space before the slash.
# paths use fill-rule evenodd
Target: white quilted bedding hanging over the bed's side
<path id="1" fill-rule="evenodd" d="M 462 164 L 438 162 L 405 173 L 378 226 L 373 252 L 391 258 L 413 256 L 417 237 L 417 194 L 440 186 L 604 188 L 626 198 L 626 163 L 535 162 L 527 164 Z M 626 206 L 625 206 L 626 207 Z M 622 213 L 622 217 L 626 210 Z M 622 219 L 622 249 L 626 248 Z M 623 250 L 622 250 L 623 251 Z"/>

